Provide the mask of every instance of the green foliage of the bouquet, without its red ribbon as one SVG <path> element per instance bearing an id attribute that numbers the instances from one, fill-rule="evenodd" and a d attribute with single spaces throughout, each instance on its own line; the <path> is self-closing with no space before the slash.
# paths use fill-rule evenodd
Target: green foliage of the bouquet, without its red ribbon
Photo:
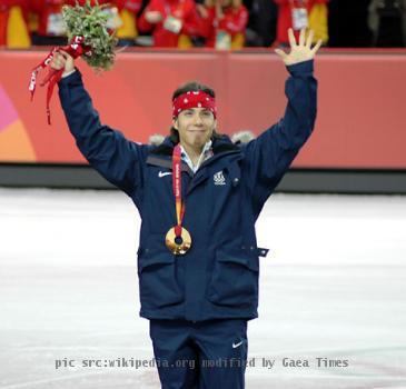
<path id="1" fill-rule="evenodd" d="M 109 70 L 115 61 L 115 47 L 117 38 L 106 27 L 109 19 L 103 11 L 103 6 L 96 2 L 90 6 L 87 0 L 83 7 L 78 2 L 75 7 L 63 6 L 62 14 L 67 24 L 68 39 L 82 36 L 85 44 L 91 48 L 91 52 L 83 54 L 82 59 L 96 70 Z"/>

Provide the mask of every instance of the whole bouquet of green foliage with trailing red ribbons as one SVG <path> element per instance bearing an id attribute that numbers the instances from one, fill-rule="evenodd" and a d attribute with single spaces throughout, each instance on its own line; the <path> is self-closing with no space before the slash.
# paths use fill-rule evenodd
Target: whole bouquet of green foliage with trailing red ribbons
<path id="1" fill-rule="evenodd" d="M 81 57 L 97 72 L 111 69 L 115 61 L 115 48 L 117 38 L 113 30 L 109 28 L 110 13 L 107 4 L 99 6 L 98 1 L 92 7 L 90 0 L 85 6 L 78 2 L 75 7 L 63 6 L 62 16 L 67 24 L 69 44 L 66 47 L 53 48 L 48 57 L 32 70 L 29 90 L 31 100 L 36 91 L 37 74 L 40 70 L 48 67 L 53 56 L 59 50 L 66 51 L 73 58 Z M 48 76 L 41 82 L 41 87 L 48 83 L 47 113 L 50 124 L 49 102 L 55 84 L 61 79 L 63 69 L 49 69 Z"/>

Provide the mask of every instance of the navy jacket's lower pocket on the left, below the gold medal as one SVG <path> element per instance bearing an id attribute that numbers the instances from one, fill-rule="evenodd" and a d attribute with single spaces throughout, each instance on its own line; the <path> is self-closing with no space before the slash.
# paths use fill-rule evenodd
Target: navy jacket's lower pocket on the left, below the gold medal
<path id="1" fill-rule="evenodd" d="M 138 276 L 142 308 L 162 308 L 184 300 L 177 281 L 176 258 L 169 251 L 142 250 L 138 257 Z"/>

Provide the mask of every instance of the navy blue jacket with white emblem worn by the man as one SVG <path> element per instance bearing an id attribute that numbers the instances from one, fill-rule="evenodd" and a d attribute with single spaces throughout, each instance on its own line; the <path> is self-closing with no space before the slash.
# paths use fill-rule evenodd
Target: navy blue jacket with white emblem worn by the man
<path id="1" fill-rule="evenodd" d="M 171 171 L 171 139 L 160 146 L 127 140 L 100 123 L 79 71 L 59 82 L 78 148 L 139 210 L 140 316 L 191 321 L 258 316 L 258 257 L 266 250 L 257 247 L 255 222 L 314 128 L 313 64 L 287 68 L 288 104 L 278 123 L 242 146 L 226 136 L 214 138 L 214 156 L 195 174 L 182 164 L 184 226 L 192 239 L 185 256 L 174 256 L 165 245 L 176 225 L 172 177 L 160 177 Z"/>

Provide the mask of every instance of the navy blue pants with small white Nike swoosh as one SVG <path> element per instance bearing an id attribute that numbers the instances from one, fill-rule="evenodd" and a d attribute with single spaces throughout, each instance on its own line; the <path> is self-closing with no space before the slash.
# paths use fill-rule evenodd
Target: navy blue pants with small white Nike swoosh
<path id="1" fill-rule="evenodd" d="M 162 389 L 244 389 L 247 320 L 150 320 Z"/>

